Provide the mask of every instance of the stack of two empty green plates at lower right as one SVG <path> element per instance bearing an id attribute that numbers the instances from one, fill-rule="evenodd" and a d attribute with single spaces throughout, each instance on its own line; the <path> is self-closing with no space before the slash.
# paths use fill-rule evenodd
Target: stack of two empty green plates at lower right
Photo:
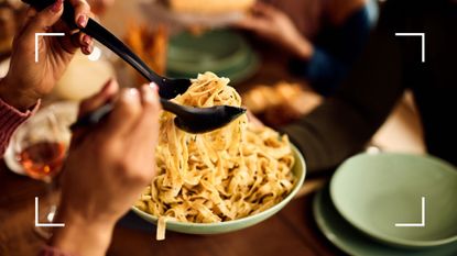
<path id="1" fill-rule="evenodd" d="M 457 169 L 431 156 L 358 155 L 316 196 L 314 214 L 349 255 L 457 255 Z"/>

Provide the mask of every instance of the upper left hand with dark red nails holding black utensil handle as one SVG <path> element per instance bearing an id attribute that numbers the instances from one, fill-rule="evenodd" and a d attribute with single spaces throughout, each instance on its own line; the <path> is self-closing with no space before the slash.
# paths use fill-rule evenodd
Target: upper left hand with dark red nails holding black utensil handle
<path id="1" fill-rule="evenodd" d="M 87 25 L 90 8 L 85 0 L 69 0 L 75 8 L 75 21 L 79 27 Z M 21 111 L 30 109 L 36 101 L 51 92 L 64 74 L 78 48 L 84 54 L 93 51 L 90 36 L 70 31 L 59 21 L 63 0 L 41 12 L 28 11 L 24 26 L 13 42 L 10 70 L 0 85 L 0 98 Z M 35 63 L 35 33 L 62 32 L 65 36 L 40 36 L 40 63 Z"/>

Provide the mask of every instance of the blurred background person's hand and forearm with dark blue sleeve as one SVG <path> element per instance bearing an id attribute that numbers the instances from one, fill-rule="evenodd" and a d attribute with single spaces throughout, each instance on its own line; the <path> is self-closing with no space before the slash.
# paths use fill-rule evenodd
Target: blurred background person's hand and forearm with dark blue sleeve
<path id="1" fill-rule="evenodd" d="M 237 23 L 292 54 L 290 69 L 333 94 L 370 33 L 366 0 L 270 0 Z"/>

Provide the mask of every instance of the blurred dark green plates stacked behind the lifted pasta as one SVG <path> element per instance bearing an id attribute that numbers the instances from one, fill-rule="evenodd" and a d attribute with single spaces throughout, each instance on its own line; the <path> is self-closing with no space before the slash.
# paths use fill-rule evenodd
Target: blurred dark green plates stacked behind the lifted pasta
<path id="1" fill-rule="evenodd" d="M 214 30 L 202 35 L 181 33 L 170 41 L 168 77 L 197 77 L 213 71 L 240 82 L 259 68 L 259 58 L 246 40 L 236 32 Z"/>

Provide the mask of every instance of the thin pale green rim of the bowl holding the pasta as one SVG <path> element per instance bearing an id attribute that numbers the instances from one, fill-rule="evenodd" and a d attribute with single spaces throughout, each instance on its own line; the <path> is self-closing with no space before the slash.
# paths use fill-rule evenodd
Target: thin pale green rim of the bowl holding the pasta
<path id="1" fill-rule="evenodd" d="M 289 203 L 295 197 L 295 194 L 298 192 L 298 190 L 302 188 L 303 182 L 305 181 L 305 176 L 306 176 L 306 164 L 305 164 L 305 159 L 304 159 L 302 153 L 292 143 L 291 143 L 291 148 L 298 158 L 298 159 L 295 158 L 295 163 L 296 162 L 302 163 L 303 171 L 302 171 L 301 176 L 298 177 L 298 180 L 295 183 L 292 191 L 281 202 L 279 202 L 279 203 L 274 204 L 273 207 L 264 210 L 263 212 L 259 212 L 257 214 L 249 215 L 249 216 L 241 218 L 241 219 L 237 219 L 237 220 L 232 220 L 232 221 L 213 222 L 213 223 L 193 223 L 193 222 L 167 221 L 166 224 L 167 225 L 179 226 L 179 227 L 205 227 L 205 229 L 215 227 L 215 226 L 224 227 L 224 226 L 235 225 L 235 224 L 242 223 L 242 222 L 250 221 L 250 220 L 255 220 L 257 218 L 259 218 L 259 215 L 268 215 L 269 213 L 274 212 L 278 209 L 284 208 L 285 204 Z M 292 167 L 292 169 L 294 167 Z M 150 223 L 156 224 L 156 222 L 159 220 L 156 216 L 154 216 L 150 213 L 143 212 L 140 209 L 138 209 L 137 207 L 132 207 L 131 210 L 134 213 L 137 213 L 138 215 L 145 219 Z"/>

